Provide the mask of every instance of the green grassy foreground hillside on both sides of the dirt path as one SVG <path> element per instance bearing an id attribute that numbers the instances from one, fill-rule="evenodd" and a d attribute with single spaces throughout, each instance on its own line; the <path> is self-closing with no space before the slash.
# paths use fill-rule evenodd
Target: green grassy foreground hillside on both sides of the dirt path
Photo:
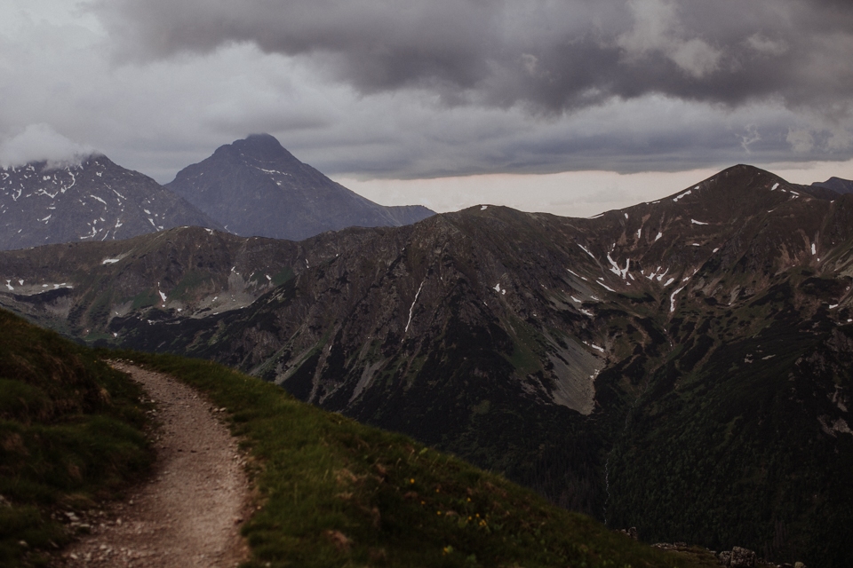
<path id="1" fill-rule="evenodd" d="M 8 312 L 0 322 L 0 560 L 52 564 L 75 533 L 89 532 L 80 517 L 99 517 L 129 481 L 143 480 L 152 457 L 140 432 L 146 395 L 92 351 Z M 175 375 L 230 417 L 256 492 L 242 529 L 247 566 L 698 565 L 224 367 L 109 355 Z"/>

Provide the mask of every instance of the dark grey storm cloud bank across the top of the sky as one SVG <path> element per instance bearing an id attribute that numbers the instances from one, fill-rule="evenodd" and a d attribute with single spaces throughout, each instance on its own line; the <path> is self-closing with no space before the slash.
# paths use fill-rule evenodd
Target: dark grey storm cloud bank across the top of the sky
<path id="1" fill-rule="evenodd" d="M 562 112 L 661 93 L 844 113 L 849 0 L 101 0 L 126 56 L 254 43 L 363 93 Z"/>

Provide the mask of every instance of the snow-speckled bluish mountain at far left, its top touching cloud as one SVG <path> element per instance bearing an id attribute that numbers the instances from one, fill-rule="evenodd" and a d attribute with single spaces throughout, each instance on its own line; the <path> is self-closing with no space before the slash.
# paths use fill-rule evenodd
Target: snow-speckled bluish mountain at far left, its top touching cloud
<path id="1" fill-rule="evenodd" d="M 106 156 L 0 170 L 0 248 L 115 241 L 181 225 L 221 228 L 139 172 Z"/>

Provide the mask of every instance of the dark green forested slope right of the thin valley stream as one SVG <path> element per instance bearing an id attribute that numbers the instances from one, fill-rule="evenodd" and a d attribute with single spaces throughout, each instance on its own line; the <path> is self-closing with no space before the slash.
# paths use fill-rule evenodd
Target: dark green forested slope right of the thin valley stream
<path id="1" fill-rule="evenodd" d="M 732 317 L 752 327 L 766 299 Z M 838 326 L 826 310 L 792 315 L 711 347 L 700 343 L 708 335 L 683 338 L 610 455 L 611 524 L 636 525 L 650 540 L 749 542 L 768 558 L 849 565 L 841 543 L 853 526 L 853 435 L 838 403 L 851 383 L 853 324 Z M 697 366 L 691 350 L 707 363 Z"/>

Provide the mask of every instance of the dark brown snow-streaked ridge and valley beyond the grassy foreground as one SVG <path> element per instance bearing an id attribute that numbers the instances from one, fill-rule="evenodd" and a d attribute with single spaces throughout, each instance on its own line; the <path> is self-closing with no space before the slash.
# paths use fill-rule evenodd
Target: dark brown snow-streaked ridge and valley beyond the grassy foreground
<path id="1" fill-rule="evenodd" d="M 9 250 L 0 304 L 249 371 L 645 541 L 849 566 L 839 189 L 741 165 L 588 219 L 483 205 L 299 242 L 183 227 Z"/>

